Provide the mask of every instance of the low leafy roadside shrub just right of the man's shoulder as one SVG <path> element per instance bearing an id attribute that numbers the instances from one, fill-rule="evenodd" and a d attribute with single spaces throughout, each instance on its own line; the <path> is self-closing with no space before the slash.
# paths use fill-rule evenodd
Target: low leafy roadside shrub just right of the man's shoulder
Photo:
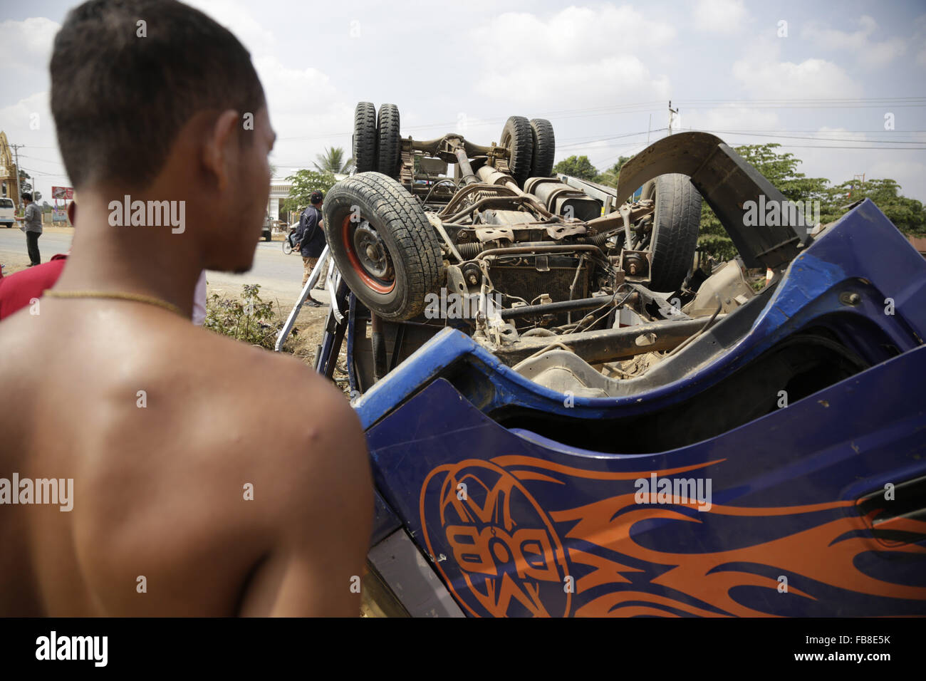
<path id="1" fill-rule="evenodd" d="M 260 299 L 260 284 L 244 284 L 241 299 L 212 294 L 206 301 L 203 327 L 253 346 L 272 349 L 282 328 L 273 303 Z"/>

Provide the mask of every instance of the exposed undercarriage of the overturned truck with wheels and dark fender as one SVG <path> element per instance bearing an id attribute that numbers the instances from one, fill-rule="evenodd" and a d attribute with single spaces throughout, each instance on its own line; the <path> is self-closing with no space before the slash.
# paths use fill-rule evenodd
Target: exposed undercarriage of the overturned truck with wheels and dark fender
<path id="1" fill-rule="evenodd" d="M 513 116 L 498 143 L 476 145 L 457 133 L 403 139 L 393 105 L 374 111 L 357 106 L 358 172 L 332 188 L 324 208 L 332 257 L 356 296 L 348 369 L 359 393 L 446 326 L 509 366 L 559 343 L 602 375 L 644 372 L 660 359 L 654 353 L 703 333 L 753 296 L 735 263 L 707 283 L 702 270 L 691 276 L 698 189 L 732 221 L 747 267 L 780 268 L 807 239 L 788 221 L 744 226 L 740 206 L 750 191 L 783 196 L 711 135 L 683 133 L 651 146 L 614 189 L 551 177 L 547 120 Z M 710 167 L 690 182 L 699 170 L 692 159 L 707 153 Z M 714 182 L 707 173 L 725 178 L 722 192 L 701 184 Z M 645 361 L 628 369 L 641 355 Z"/>

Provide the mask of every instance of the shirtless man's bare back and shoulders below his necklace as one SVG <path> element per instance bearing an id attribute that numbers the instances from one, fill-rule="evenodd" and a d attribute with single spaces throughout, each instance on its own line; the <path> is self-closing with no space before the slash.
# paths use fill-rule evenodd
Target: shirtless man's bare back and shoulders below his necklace
<path id="1" fill-rule="evenodd" d="M 39 311 L 0 334 L 0 475 L 72 479 L 72 510 L 0 507 L 0 612 L 357 612 L 371 492 L 342 395 L 167 310 Z M 267 422 L 281 396 L 306 417 Z"/>

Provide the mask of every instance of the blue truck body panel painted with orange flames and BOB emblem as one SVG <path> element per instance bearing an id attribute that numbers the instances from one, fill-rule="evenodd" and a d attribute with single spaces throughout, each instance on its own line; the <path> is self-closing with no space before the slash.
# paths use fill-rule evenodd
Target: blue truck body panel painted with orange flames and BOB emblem
<path id="1" fill-rule="evenodd" d="M 811 325 L 899 354 L 669 451 L 588 451 L 492 418 L 663 410 Z M 382 498 L 469 614 L 923 615 L 926 523 L 885 539 L 858 499 L 926 476 L 924 337 L 926 261 L 866 201 L 791 263 L 747 334 L 669 383 L 567 406 L 445 329 L 356 407 Z M 666 481 L 696 502 L 662 497 Z"/>

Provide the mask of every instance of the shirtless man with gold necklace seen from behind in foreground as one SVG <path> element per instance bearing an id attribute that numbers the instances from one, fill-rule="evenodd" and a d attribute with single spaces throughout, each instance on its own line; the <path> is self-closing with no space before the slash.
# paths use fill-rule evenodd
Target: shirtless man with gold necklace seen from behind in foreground
<path id="1" fill-rule="evenodd" d="M 200 271 L 251 267 L 267 205 L 249 55 L 180 3 L 94 0 L 51 74 L 80 229 L 55 287 L 0 325 L 0 615 L 357 614 L 357 416 L 301 362 L 190 322 Z M 112 226 L 126 195 L 181 219 Z M 281 395 L 307 416 L 266 422 Z M 23 503 L 39 478 L 72 479 L 72 509 Z"/>

